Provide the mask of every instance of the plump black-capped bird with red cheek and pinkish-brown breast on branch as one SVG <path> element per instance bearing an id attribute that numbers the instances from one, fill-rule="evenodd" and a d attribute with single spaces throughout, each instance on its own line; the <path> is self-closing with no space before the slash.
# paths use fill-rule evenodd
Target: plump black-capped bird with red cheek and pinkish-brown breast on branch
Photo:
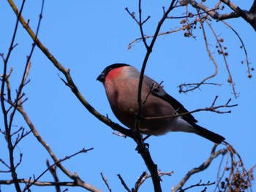
<path id="1" fill-rule="evenodd" d="M 111 64 L 97 77 L 116 118 L 135 131 L 135 114 L 138 112 L 138 85 L 140 72 L 129 64 Z M 198 126 L 197 120 L 185 107 L 170 96 L 155 80 L 144 74 L 141 89 L 142 110 L 140 131 L 142 134 L 160 136 L 169 131 L 183 131 L 197 134 L 211 142 L 225 140 L 219 134 Z M 174 118 L 162 118 L 171 117 Z"/>

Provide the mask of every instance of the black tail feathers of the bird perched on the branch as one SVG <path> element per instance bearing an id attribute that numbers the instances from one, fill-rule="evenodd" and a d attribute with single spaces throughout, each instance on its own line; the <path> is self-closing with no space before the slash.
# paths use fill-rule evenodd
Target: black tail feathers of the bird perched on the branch
<path id="1" fill-rule="evenodd" d="M 193 125 L 196 129 L 197 129 L 197 135 L 200 135 L 201 137 L 204 137 L 206 139 L 209 139 L 210 141 L 212 142 L 215 142 L 215 143 L 221 143 L 222 141 L 225 140 L 224 137 L 222 137 L 221 135 L 219 134 L 215 134 L 214 132 L 211 132 L 209 130 L 207 130 L 206 128 L 203 128 L 201 126 L 197 126 L 197 124 L 194 123 Z"/>

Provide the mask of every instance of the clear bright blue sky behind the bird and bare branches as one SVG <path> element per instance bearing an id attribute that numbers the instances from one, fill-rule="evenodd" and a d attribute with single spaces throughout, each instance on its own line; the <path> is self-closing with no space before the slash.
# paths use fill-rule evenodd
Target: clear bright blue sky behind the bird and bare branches
<path id="1" fill-rule="evenodd" d="M 19 4 L 20 2 L 18 2 Z M 151 35 L 162 16 L 162 6 L 168 1 L 143 1 L 143 18 L 151 15 L 145 24 L 145 34 Z M 37 27 L 41 2 L 26 1 L 23 17 L 30 20 L 34 30 Z M 250 3 L 239 2 L 242 9 L 248 9 Z M 19 6 L 18 6 L 19 7 Z M 118 122 L 110 110 L 105 90 L 101 83 L 96 81 L 100 72 L 113 63 L 127 63 L 140 69 L 146 49 L 142 42 L 135 43 L 131 50 L 127 50 L 129 42 L 140 37 L 138 25 L 125 11 L 138 16 L 136 1 L 45 1 L 45 7 L 40 26 L 39 39 L 48 47 L 62 65 L 70 69 L 70 73 L 83 96 L 103 115 L 107 115 Z M 226 11 L 228 11 L 226 7 Z M 184 12 L 179 8 L 170 15 L 178 16 Z M 5 1 L 0 2 L 1 26 L 0 52 L 7 54 L 8 46 L 15 26 L 15 15 Z M 176 28 L 180 20 L 167 20 L 160 31 Z M 255 68 L 255 31 L 248 23 L 238 18 L 227 20 L 240 34 L 246 45 L 249 61 Z M 222 83 L 221 87 L 203 86 L 200 90 L 187 94 L 178 93 L 177 86 L 184 82 L 198 82 L 214 73 L 204 47 L 202 32 L 195 30 L 196 39 L 184 38 L 183 32 L 159 37 L 151 54 L 146 74 L 158 82 L 164 81 L 165 91 L 184 104 L 187 110 L 196 110 L 211 106 L 214 97 L 219 99 L 217 104 L 238 104 L 227 110 L 230 114 L 219 115 L 213 112 L 197 112 L 194 114 L 200 126 L 224 136 L 238 151 L 244 160 L 247 169 L 256 163 L 256 90 L 255 72 L 249 80 L 246 74 L 246 65 L 241 64 L 245 55 L 240 49 L 241 43 L 230 29 L 222 23 L 213 22 L 219 37 L 225 39 L 224 45 L 228 50 L 227 61 L 236 83 L 236 91 L 240 93 L 238 99 L 232 94 L 232 88 L 227 82 L 228 74 L 225 63 L 217 50 L 212 35 L 208 36 L 209 46 L 219 66 L 216 78 L 209 82 Z M 149 39 L 150 41 L 150 39 Z M 18 88 L 21 72 L 26 64 L 26 55 L 29 55 L 32 41 L 26 31 L 19 26 L 17 39 L 18 46 L 13 50 L 9 67 L 13 67 L 11 86 Z M 75 156 L 63 164 L 71 172 L 102 191 L 107 191 L 100 172 L 108 177 L 113 191 L 124 191 L 116 174 L 121 174 L 132 188 L 137 178 L 146 170 L 140 155 L 135 151 L 135 142 L 123 139 L 112 134 L 113 131 L 99 122 L 79 103 L 69 88 L 59 79 L 58 70 L 43 55 L 35 49 L 31 59 L 29 82 L 24 88 L 29 99 L 24 108 L 45 141 L 52 147 L 59 158 L 76 153 L 78 150 L 94 147 L 89 153 Z M 225 110 L 225 109 L 223 109 Z M 17 115 L 14 124 L 28 129 L 23 119 Z M 3 123 L 0 124 L 3 128 Z M 4 137 L 0 137 L 1 157 L 7 159 L 7 150 Z M 174 171 L 171 177 L 162 177 L 163 191 L 178 183 L 187 172 L 199 166 L 208 158 L 213 143 L 194 134 L 170 133 L 163 137 L 148 139 L 150 152 L 154 162 L 162 172 Z M 50 158 L 45 149 L 39 145 L 32 135 L 23 139 L 16 150 L 17 157 L 23 153 L 22 165 L 18 168 L 18 177 L 29 178 L 41 174 L 45 169 L 45 161 Z M 221 148 L 220 146 L 219 148 Z M 206 172 L 191 178 L 187 186 L 203 180 L 214 181 L 217 177 L 216 169 L 220 158 L 214 161 Z M 0 170 L 1 170 L 0 166 Z M 61 180 L 69 180 L 61 172 Z M 1 179 L 10 179 L 9 174 L 0 173 Z M 53 180 L 50 174 L 45 174 L 42 180 Z M 255 182 L 253 182 L 255 183 Z M 208 187 L 209 191 L 213 189 Z M 255 186 L 253 189 L 256 189 Z M 1 186 L 1 191 L 12 191 L 14 187 Z M 48 188 L 54 191 L 54 188 Z M 64 190 L 64 188 L 62 188 Z M 202 188 L 203 190 L 203 188 Z M 45 191 L 45 188 L 32 188 L 32 191 Z M 83 191 L 80 188 L 69 188 L 69 191 Z M 141 191 L 151 191 L 151 180 L 147 180 Z"/>

